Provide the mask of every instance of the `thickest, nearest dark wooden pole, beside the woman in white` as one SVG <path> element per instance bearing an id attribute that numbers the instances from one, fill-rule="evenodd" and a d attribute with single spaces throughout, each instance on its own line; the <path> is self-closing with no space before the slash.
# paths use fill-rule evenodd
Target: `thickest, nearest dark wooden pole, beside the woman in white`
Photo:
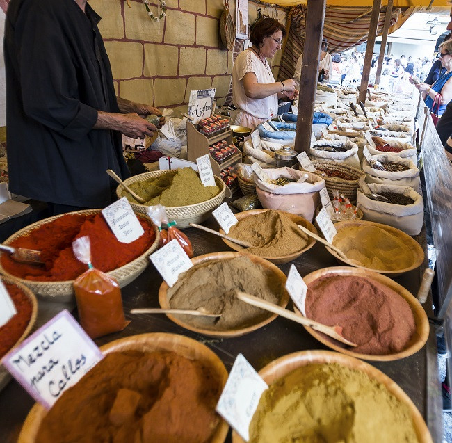
<path id="1" fill-rule="evenodd" d="M 303 48 L 295 138 L 296 152 L 309 153 L 311 145 L 312 116 L 316 102 L 318 59 L 320 58 L 325 7 L 326 0 L 307 2 L 305 47 Z"/>

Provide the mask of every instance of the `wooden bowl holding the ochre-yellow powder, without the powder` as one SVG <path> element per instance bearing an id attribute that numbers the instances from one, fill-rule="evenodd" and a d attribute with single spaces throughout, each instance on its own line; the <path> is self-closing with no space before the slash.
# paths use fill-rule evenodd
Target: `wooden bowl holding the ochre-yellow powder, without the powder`
<path id="1" fill-rule="evenodd" d="M 412 250 L 412 256 L 413 256 L 413 264 L 409 268 L 403 268 L 403 269 L 395 269 L 394 271 L 384 271 L 382 269 L 373 269 L 373 268 L 366 268 L 365 266 L 360 266 L 358 264 L 355 264 L 353 260 L 345 260 L 342 257 L 340 257 L 337 252 L 332 250 L 331 248 L 328 248 L 328 246 L 325 246 L 325 248 L 330 252 L 331 255 L 334 255 L 339 261 L 342 263 L 348 264 L 349 266 L 354 266 L 355 268 L 362 268 L 366 269 L 367 271 L 373 271 L 380 274 L 388 274 L 392 275 L 392 277 L 396 277 L 397 275 L 401 275 L 405 272 L 412 271 L 413 269 L 419 268 L 424 260 L 424 253 L 421 245 L 417 243 L 416 240 L 414 240 L 412 237 L 410 237 L 408 234 L 405 234 L 405 232 L 401 231 L 400 229 L 397 229 L 396 227 L 388 226 L 388 225 L 382 225 L 382 223 L 376 223 L 376 222 L 370 222 L 370 221 L 364 221 L 364 220 L 348 220 L 343 222 L 334 223 L 334 227 L 337 229 L 337 232 L 339 232 L 341 229 L 347 229 L 348 227 L 353 226 L 362 226 L 362 225 L 372 225 L 376 227 L 380 227 L 381 229 L 385 229 L 385 231 L 389 232 L 389 234 L 392 234 L 394 236 L 398 236 L 400 239 L 403 240 L 403 243 L 405 245 L 408 245 L 410 249 Z"/>

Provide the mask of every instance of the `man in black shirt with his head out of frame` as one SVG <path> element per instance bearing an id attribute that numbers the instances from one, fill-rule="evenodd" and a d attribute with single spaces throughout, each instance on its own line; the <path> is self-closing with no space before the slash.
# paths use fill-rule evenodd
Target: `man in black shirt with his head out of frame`
<path id="1" fill-rule="evenodd" d="M 11 0 L 5 22 L 10 191 L 51 214 L 105 207 L 114 170 L 129 176 L 120 132 L 152 136 L 152 106 L 115 97 L 100 17 L 86 0 Z M 161 120 L 161 124 L 163 120 Z"/>

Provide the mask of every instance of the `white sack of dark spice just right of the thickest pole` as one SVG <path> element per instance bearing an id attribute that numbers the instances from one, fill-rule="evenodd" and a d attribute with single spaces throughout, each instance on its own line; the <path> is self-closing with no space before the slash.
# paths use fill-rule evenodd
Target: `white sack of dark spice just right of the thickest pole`
<path id="1" fill-rule="evenodd" d="M 353 168 L 361 168 L 358 146 L 350 140 L 318 140 L 312 143 L 309 157 L 312 160 L 336 161 Z"/>

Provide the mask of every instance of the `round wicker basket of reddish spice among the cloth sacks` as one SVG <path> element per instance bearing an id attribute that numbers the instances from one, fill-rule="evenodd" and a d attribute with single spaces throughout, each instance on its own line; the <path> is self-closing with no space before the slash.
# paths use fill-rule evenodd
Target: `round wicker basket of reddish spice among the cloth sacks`
<path id="1" fill-rule="evenodd" d="M 344 180 L 338 177 L 322 178 L 325 180 L 325 188 L 327 188 L 330 199 L 333 199 L 333 191 L 339 191 L 339 194 L 343 194 L 344 197 L 350 200 L 350 202 L 356 202 L 356 191 L 360 186 L 358 185 L 358 180 L 360 177 L 365 175 L 362 170 L 353 168 L 353 166 L 348 166 L 344 163 L 336 163 L 335 161 L 313 160 L 312 164 L 316 169 L 321 168 L 322 170 L 336 170 L 353 177 L 353 180 Z M 320 172 L 314 172 L 314 174 L 321 175 Z"/>

